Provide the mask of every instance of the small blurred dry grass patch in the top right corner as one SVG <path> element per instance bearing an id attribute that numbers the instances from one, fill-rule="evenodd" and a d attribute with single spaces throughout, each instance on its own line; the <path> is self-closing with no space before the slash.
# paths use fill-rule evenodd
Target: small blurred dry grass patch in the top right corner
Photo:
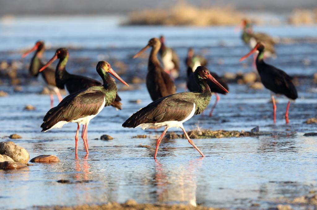
<path id="1" fill-rule="evenodd" d="M 292 25 L 313 25 L 317 24 L 317 8 L 308 9 L 295 9 L 288 17 L 288 23 Z"/>

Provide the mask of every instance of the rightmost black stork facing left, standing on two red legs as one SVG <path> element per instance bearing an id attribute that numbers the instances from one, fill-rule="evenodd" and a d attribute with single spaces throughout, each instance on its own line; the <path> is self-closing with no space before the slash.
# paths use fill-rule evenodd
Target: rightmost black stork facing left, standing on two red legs
<path id="1" fill-rule="evenodd" d="M 256 51 L 259 51 L 259 54 L 256 57 L 256 69 L 259 72 L 264 87 L 272 92 L 271 97 L 273 103 L 274 123 L 276 123 L 276 105 L 273 94 L 285 95 L 289 99 L 285 113 L 285 121 L 286 123 L 288 123 L 288 109 L 290 100 L 295 100 L 298 98 L 297 90 L 292 82 L 292 77 L 290 77 L 281 69 L 277 69 L 276 67 L 264 62 L 263 56 L 265 45 L 262 42 L 258 42 L 256 46 L 248 54 L 240 58 L 239 61 L 243 61 L 245 58 L 249 57 L 252 53 Z"/>

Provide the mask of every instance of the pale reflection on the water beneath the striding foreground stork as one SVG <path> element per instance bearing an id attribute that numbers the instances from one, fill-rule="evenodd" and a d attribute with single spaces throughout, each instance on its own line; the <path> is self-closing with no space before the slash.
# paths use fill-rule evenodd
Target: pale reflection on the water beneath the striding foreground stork
<path id="1" fill-rule="evenodd" d="M 155 183 L 158 201 L 162 203 L 196 204 L 197 180 L 195 171 L 201 166 L 203 157 L 180 165 L 173 171 L 166 170 L 159 160 L 155 160 Z"/>

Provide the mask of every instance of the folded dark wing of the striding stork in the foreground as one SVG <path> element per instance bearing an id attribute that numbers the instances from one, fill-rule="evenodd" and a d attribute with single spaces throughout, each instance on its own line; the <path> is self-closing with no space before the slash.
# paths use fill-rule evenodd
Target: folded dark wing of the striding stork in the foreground
<path id="1" fill-rule="evenodd" d="M 193 109 L 195 97 L 190 92 L 176 93 L 153 101 L 135 112 L 122 124 L 125 128 L 135 128 L 142 123 L 162 123 L 166 121 L 182 121 Z"/>

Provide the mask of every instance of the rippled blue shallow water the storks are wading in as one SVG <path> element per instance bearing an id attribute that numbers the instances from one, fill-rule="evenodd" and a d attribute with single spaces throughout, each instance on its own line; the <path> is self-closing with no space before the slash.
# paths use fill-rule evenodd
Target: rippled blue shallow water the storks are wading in
<path id="1" fill-rule="evenodd" d="M 97 18 L 93 20 L 96 21 Z M 91 22 L 83 22 L 85 26 L 88 23 Z M 251 70 L 250 66 L 242 67 L 237 62 L 243 53 L 248 52 L 248 48 L 241 43 L 239 34 L 235 34 L 233 28 L 217 27 L 210 30 L 185 27 L 181 28 L 184 33 L 178 34 L 179 27 L 118 27 L 110 24 L 109 28 L 112 30 L 106 31 L 105 27 L 101 27 L 98 32 L 100 40 L 110 39 L 110 44 L 99 45 L 100 40 L 96 39 L 96 35 L 86 37 L 91 28 L 86 31 L 71 24 L 74 30 L 69 32 L 65 29 L 66 23 L 57 23 L 56 20 L 37 20 L 32 26 L 29 20 L 19 20 L 9 26 L 6 24 L 2 23 L 0 27 L 9 27 L 11 32 L 6 31 L 1 36 L 6 37 L 6 43 L 12 44 L 13 51 L 8 52 L 9 44 L 4 47 L 2 45 L 3 59 L 20 59 L 18 49 L 31 46 L 40 37 L 54 46 L 60 43 L 70 45 L 67 41 L 69 39 L 74 45 L 82 47 L 70 51 L 69 71 L 76 72 L 74 69 L 81 68 L 83 64 L 87 67 L 85 74 L 95 78 L 98 77 L 91 64 L 100 57 L 123 61 L 127 64 L 128 71 L 135 70 L 135 74 L 142 77 L 146 72 L 146 59 L 132 60 L 131 55 L 145 45 L 148 38 L 161 33 L 171 38 L 168 43 L 175 43 L 180 57 L 185 56 L 187 47 L 194 42 L 197 42 L 200 50 L 211 47 L 206 56 L 212 58 L 209 65 L 213 69 L 219 69 L 217 72 L 220 75 L 226 71 Z M 103 24 L 105 23 L 97 21 L 91 27 Z M 48 25 L 56 28 L 61 26 L 62 29 L 56 34 L 54 29 L 46 28 Z M 36 27 L 43 29 L 40 34 L 36 33 Z M 29 30 L 25 31 L 27 28 Z M 295 38 L 305 38 L 308 32 L 316 31 L 316 27 L 290 30 L 292 33 L 286 32 L 288 26 L 260 29 L 268 30 L 275 36 Z M 19 30 L 20 34 L 17 33 Z M 202 32 L 197 33 L 197 30 Z M 66 31 L 70 35 L 64 36 L 62 32 Z M 76 34 L 79 35 L 75 36 Z M 219 40 L 224 40 L 225 45 L 219 45 Z M 111 45 L 113 46 L 110 47 Z M 307 42 L 277 45 L 278 58 L 271 60 L 271 63 L 284 70 L 288 67 L 286 71 L 291 72 L 290 74 L 310 76 L 316 72 L 316 46 L 316 43 Z M 45 58 L 51 57 L 53 51 L 48 50 Z M 83 57 L 85 60 L 80 61 Z M 223 64 L 217 63 L 220 58 L 223 59 Z M 310 65 L 305 66 L 303 58 L 308 58 Z M 80 63 L 75 63 L 72 59 Z M 29 58 L 23 62 L 29 62 Z M 123 78 L 128 79 L 127 75 L 123 75 Z M 178 92 L 184 91 L 182 82 L 177 81 Z M 303 134 L 316 132 L 317 129 L 316 125 L 303 122 L 316 117 L 317 98 L 314 90 L 317 85 L 312 84 L 310 78 L 300 80 L 297 87 L 299 99 L 290 106 L 288 125 L 283 118 L 287 99 L 277 99 L 277 123 L 274 125 L 267 90 L 251 90 L 245 85 L 237 84 L 229 86 L 230 93 L 221 95 L 212 118 L 208 117 L 208 112 L 215 97 L 212 97 L 203 116 L 194 116 L 184 123 L 185 129 L 195 129 L 199 123 L 199 127 L 203 129 L 249 131 L 259 125 L 260 131 L 288 130 L 297 133 L 288 136 L 194 139 L 197 147 L 206 155 L 205 158 L 201 158 L 185 139 L 164 140 L 159 147 L 158 160 L 154 161 L 156 138 L 163 129 L 154 132 L 121 127 L 133 112 L 151 102 L 145 85 L 141 84 L 139 89 L 119 92 L 123 103 L 122 111 L 106 107 L 91 121 L 88 127 L 89 156 L 85 156 L 83 144 L 80 143 L 79 157 L 75 159 L 76 124 L 66 124 L 62 129 L 53 129 L 47 133 L 40 132 L 42 118 L 49 110 L 49 96 L 38 94 L 42 89 L 39 83 L 29 79 L 23 85 L 21 93 L 13 92 L 13 87 L 0 86 L 0 90 L 9 92 L 9 96 L 0 98 L 1 141 L 9 141 L 5 136 L 17 133 L 23 138 L 13 141 L 27 149 L 30 158 L 54 154 L 61 159 L 59 163 L 37 163 L 27 169 L 1 170 L 0 208 L 97 204 L 108 201 L 124 202 L 127 199 L 142 203 L 191 203 L 231 208 L 250 207 L 252 203 L 259 203 L 259 208 L 266 208 L 274 206 L 276 198 L 294 198 L 306 195 L 309 190 L 316 190 L 316 138 L 305 137 Z M 141 99 L 141 103 L 129 102 L 135 99 Z M 34 105 L 36 110 L 23 110 L 27 104 Z M 94 140 L 103 134 L 111 135 L 114 139 Z M 146 134 L 148 137 L 133 138 L 138 134 Z M 139 144 L 152 148 L 140 148 Z M 61 179 L 73 183 L 57 183 Z M 74 183 L 76 181 L 87 183 Z"/>

